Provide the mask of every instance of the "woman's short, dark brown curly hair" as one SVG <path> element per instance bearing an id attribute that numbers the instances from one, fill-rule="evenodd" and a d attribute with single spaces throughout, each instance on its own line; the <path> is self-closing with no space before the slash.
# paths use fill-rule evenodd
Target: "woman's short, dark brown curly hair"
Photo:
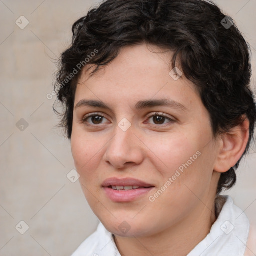
<path id="1" fill-rule="evenodd" d="M 227 25 L 225 25 L 227 24 Z M 205 0 L 105 0 L 72 26 L 72 44 L 59 61 L 55 92 L 62 103 L 60 126 L 71 138 L 74 95 L 87 63 L 110 63 L 124 46 L 147 43 L 169 49 L 185 77 L 192 81 L 210 114 L 213 135 L 249 120 L 253 140 L 256 107 L 249 88 L 250 48 L 233 20 Z M 242 155 L 242 156 L 243 156 Z M 241 157 L 242 158 L 242 157 Z M 217 191 L 236 182 L 235 169 L 221 173 Z"/>

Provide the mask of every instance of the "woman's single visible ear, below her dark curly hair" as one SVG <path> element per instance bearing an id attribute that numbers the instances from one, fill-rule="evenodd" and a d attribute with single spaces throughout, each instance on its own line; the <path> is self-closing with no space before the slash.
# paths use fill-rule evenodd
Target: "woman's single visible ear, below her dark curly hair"
<path id="1" fill-rule="evenodd" d="M 241 158 L 249 139 L 249 120 L 246 116 L 243 122 L 219 137 L 219 151 L 214 170 L 226 172 Z"/>

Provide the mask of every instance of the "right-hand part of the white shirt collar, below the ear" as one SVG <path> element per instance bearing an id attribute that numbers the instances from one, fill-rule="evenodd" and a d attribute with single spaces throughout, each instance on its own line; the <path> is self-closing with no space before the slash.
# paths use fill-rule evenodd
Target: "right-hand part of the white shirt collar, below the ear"
<path id="1" fill-rule="evenodd" d="M 249 220 L 246 214 L 228 195 L 208 235 L 198 243 L 187 256 L 242 256 L 249 234 Z"/>

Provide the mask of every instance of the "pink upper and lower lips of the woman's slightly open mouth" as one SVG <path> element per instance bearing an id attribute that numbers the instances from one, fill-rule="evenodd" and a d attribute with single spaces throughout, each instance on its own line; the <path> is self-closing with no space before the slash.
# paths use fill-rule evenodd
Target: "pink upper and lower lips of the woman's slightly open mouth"
<path id="1" fill-rule="evenodd" d="M 132 190 L 115 190 L 110 186 L 142 186 Z M 102 183 L 106 195 L 114 202 L 128 202 L 148 193 L 154 186 L 134 178 L 107 178 Z"/>

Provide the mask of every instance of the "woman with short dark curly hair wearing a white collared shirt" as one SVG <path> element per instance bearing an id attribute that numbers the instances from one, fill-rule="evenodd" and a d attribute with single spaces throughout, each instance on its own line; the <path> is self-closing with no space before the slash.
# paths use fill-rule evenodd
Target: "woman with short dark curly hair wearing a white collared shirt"
<path id="1" fill-rule="evenodd" d="M 245 213 L 219 195 L 256 117 L 233 20 L 202 0 L 106 0 L 72 31 L 55 90 L 100 220 L 72 255 L 255 254 Z"/>

